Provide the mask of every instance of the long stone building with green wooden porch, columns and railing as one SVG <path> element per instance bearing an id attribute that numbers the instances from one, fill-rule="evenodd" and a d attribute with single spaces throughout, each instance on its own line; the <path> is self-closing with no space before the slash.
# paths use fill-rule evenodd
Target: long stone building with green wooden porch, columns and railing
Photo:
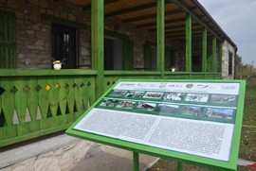
<path id="1" fill-rule="evenodd" d="M 233 78 L 236 51 L 197 0 L 0 0 L 0 146 L 68 128 L 119 78 Z"/>

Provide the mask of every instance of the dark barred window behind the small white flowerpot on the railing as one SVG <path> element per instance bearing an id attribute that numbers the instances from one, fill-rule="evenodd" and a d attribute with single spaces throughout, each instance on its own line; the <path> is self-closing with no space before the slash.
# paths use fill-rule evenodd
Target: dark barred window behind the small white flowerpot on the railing
<path id="1" fill-rule="evenodd" d="M 51 25 L 51 29 L 52 58 L 62 60 L 63 68 L 76 68 L 78 60 L 77 29 L 55 23 Z"/>

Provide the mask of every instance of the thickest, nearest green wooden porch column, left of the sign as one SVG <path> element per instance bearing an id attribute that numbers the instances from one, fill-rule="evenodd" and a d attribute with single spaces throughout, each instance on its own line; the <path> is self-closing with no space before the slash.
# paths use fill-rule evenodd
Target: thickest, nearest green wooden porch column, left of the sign
<path id="1" fill-rule="evenodd" d="M 92 69 L 98 70 L 96 97 L 104 93 L 104 0 L 93 0 L 91 9 Z"/>

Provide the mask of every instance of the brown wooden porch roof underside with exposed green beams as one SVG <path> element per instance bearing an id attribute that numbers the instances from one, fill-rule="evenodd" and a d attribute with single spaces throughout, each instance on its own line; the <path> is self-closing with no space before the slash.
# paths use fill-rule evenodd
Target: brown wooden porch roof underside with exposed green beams
<path id="1" fill-rule="evenodd" d="M 81 6 L 83 10 L 91 9 L 91 0 L 65 0 Z M 214 21 L 209 12 L 197 0 L 167 0 L 165 2 L 165 35 L 177 41 L 186 39 L 186 14 L 192 14 L 192 37 L 201 39 L 203 28 L 209 30 L 209 36 L 216 35 L 221 41 L 227 40 L 237 49 L 235 43 Z M 150 32 L 156 31 L 155 0 L 104 0 L 104 17 L 118 18 L 123 23 L 131 23 L 137 28 Z"/>

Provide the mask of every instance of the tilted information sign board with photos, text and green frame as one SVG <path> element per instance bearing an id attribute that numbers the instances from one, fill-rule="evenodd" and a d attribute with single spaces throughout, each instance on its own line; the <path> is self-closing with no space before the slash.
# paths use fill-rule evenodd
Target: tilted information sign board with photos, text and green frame
<path id="1" fill-rule="evenodd" d="M 241 80 L 119 80 L 67 133 L 235 170 L 244 98 Z"/>

